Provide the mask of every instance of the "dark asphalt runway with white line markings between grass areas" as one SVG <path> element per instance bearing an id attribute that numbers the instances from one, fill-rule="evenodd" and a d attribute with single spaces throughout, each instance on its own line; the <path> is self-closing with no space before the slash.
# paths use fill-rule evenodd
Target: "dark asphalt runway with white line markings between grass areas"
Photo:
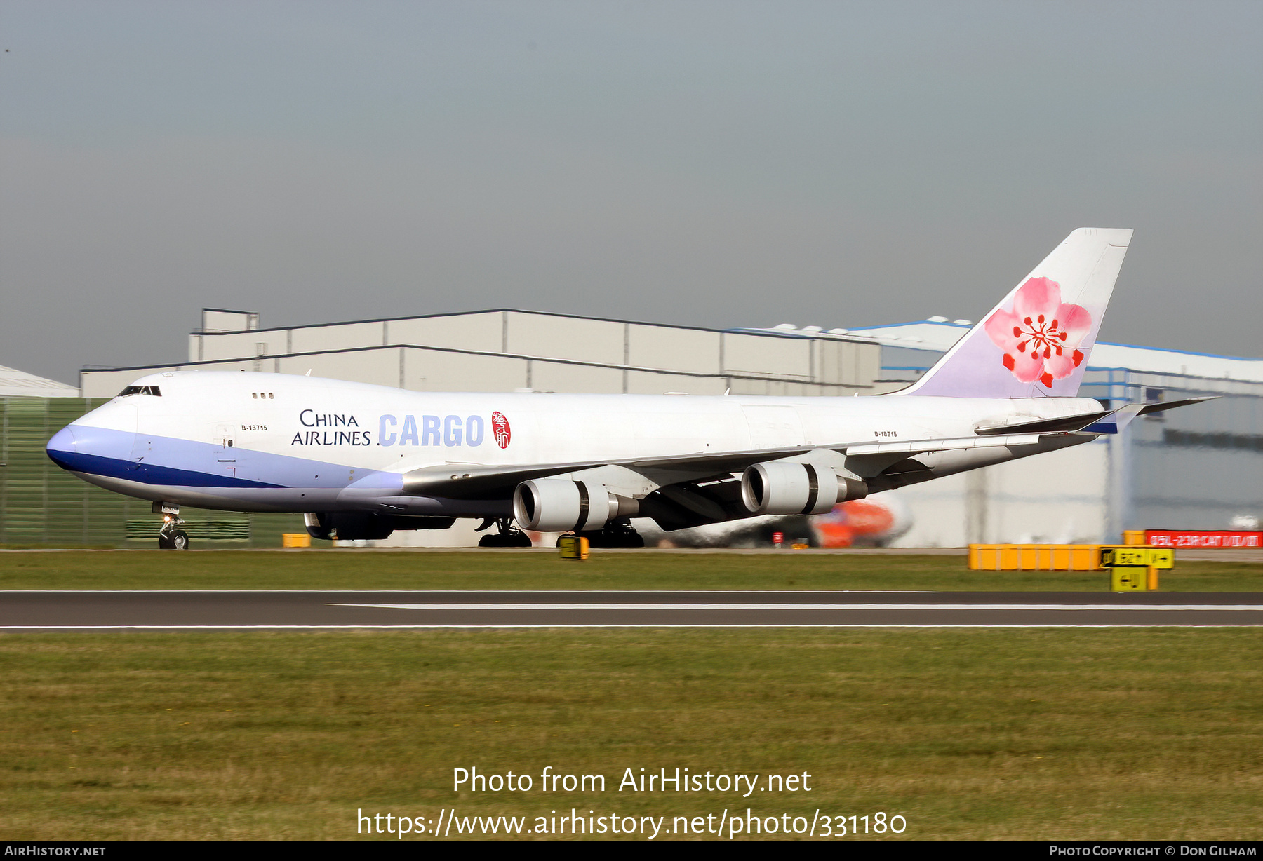
<path id="1" fill-rule="evenodd" d="M 1254 592 L 0 591 L 0 630 L 1258 626 Z"/>

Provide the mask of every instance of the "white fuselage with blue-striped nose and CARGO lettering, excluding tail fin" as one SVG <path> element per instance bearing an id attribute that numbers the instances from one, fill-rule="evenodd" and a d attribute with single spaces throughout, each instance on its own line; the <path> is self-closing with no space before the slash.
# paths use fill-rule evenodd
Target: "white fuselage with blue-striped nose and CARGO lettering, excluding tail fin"
<path id="1" fill-rule="evenodd" d="M 1082 398 L 427 393 L 240 372 L 155 374 L 136 386 L 157 394 L 88 413 L 49 456 L 154 501 L 455 516 L 499 516 L 506 502 L 405 495 L 404 473 L 970 437 L 1100 409 Z"/>

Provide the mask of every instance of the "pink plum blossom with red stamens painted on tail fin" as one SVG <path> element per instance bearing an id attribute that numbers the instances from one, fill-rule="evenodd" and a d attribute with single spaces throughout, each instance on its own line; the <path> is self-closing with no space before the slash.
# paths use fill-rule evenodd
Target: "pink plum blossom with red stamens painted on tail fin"
<path id="1" fill-rule="evenodd" d="M 985 328 L 1004 351 L 1002 361 L 1013 376 L 1052 388 L 1053 380 L 1070 376 L 1084 361 L 1077 347 L 1091 324 L 1092 316 L 1086 308 L 1061 300 L 1057 282 L 1032 278 L 1018 288 L 1013 311 L 998 309 Z"/>

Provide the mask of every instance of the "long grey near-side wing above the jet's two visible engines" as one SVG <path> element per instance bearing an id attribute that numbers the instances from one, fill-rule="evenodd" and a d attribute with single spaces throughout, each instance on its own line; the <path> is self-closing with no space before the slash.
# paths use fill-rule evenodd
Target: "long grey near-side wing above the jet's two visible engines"
<path id="1" fill-rule="evenodd" d="M 448 499 L 508 496 L 513 492 L 514 487 L 530 478 L 546 478 L 548 476 L 582 472 L 606 466 L 620 466 L 634 472 L 668 472 L 672 473 L 676 481 L 697 481 L 712 476 L 741 472 L 746 467 L 762 463 L 763 461 L 777 461 L 821 449 L 844 454 L 847 462 L 854 457 L 858 466 L 864 461 L 873 460 L 874 462 L 880 462 L 884 468 L 884 465 L 926 452 L 991 446 L 1032 446 L 1037 444 L 1043 437 L 1050 436 L 1067 434 L 1022 433 L 916 441 L 901 439 L 826 446 L 794 446 L 789 448 L 757 448 L 739 452 L 695 452 L 669 457 L 629 458 L 621 461 L 573 461 L 568 463 L 512 467 L 448 463 L 443 467 L 426 467 L 404 473 L 403 492 L 405 496 L 445 496 Z M 877 472 L 880 472 L 880 468 Z"/>

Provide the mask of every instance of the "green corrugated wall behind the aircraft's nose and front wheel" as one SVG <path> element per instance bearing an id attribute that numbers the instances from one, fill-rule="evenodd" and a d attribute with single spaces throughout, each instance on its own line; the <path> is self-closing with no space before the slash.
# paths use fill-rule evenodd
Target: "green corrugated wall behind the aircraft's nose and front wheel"
<path id="1" fill-rule="evenodd" d="M 59 429 L 107 398 L 0 398 L 0 544 L 157 545 L 149 502 L 81 481 L 48 460 Z M 302 516 L 186 509 L 195 547 L 280 547 Z M 145 524 L 152 524 L 145 528 Z"/>

